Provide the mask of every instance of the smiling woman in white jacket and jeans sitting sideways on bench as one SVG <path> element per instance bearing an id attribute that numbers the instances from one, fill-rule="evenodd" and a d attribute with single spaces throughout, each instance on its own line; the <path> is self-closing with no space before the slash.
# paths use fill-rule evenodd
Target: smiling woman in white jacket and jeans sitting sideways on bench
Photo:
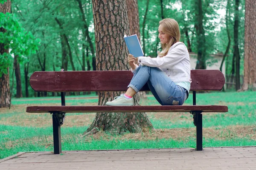
<path id="1" fill-rule="evenodd" d="M 128 63 L 134 73 L 125 94 L 115 97 L 106 105 L 131 106 L 133 96 L 148 84 L 161 105 L 183 105 L 190 89 L 190 60 L 186 45 L 180 41 L 180 28 L 174 19 L 159 22 L 158 37 L 163 51 L 157 58 L 128 55 Z M 136 65 L 136 61 L 139 64 Z"/>

